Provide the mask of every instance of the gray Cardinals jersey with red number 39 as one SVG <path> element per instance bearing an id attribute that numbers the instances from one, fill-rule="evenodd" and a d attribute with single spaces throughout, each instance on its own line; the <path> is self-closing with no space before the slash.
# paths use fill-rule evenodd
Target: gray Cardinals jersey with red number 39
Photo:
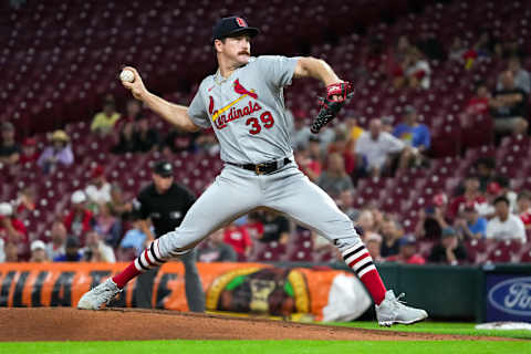
<path id="1" fill-rule="evenodd" d="M 291 84 L 296 62 L 251 58 L 228 79 L 218 71 L 201 82 L 188 115 L 200 127 L 214 127 L 222 160 L 259 164 L 293 154 L 283 87 Z"/>

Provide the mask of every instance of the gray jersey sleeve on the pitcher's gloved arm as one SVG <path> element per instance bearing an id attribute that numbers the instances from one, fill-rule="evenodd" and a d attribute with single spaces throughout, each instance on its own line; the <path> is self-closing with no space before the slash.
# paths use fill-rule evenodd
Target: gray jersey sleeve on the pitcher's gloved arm
<path id="1" fill-rule="evenodd" d="M 266 82 L 277 87 L 291 85 L 299 58 L 281 55 L 259 56 L 257 64 Z"/>

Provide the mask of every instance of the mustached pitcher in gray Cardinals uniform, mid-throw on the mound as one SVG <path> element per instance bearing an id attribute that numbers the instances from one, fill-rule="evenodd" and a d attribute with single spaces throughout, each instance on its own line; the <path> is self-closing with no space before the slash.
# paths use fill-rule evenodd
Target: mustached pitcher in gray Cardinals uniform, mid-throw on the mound
<path id="1" fill-rule="evenodd" d="M 85 293 L 77 308 L 100 309 L 139 273 L 189 252 L 239 216 L 267 207 L 323 235 L 340 249 L 371 293 L 381 325 L 426 319 L 426 311 L 406 306 L 400 296 L 385 289 L 352 221 L 294 163 L 284 115 L 284 87 L 302 77 L 320 80 L 326 86 L 320 115 L 312 126 L 316 133 L 337 114 L 352 85 L 314 58 L 252 58 L 250 41 L 259 30 L 240 17 L 219 20 L 212 32 L 218 71 L 201 82 L 188 107 L 149 93 L 134 67 L 125 67 L 134 79 L 123 81 L 123 85 L 181 131 L 214 127 L 225 167 L 177 229 L 153 241 L 122 273 Z"/>

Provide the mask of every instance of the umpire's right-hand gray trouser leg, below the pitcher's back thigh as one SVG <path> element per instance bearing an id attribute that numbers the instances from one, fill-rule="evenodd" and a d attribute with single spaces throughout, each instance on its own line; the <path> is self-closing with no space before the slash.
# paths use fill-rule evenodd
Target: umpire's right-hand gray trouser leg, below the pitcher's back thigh
<path id="1" fill-rule="evenodd" d="M 196 266 L 196 250 L 180 256 L 180 261 L 185 266 L 185 292 L 188 309 L 191 312 L 205 312 L 205 292 Z"/>

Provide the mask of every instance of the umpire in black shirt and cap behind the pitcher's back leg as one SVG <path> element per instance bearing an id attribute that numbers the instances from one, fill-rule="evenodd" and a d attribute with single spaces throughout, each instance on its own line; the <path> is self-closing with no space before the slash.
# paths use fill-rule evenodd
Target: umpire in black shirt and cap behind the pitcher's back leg
<path id="1" fill-rule="evenodd" d="M 142 189 L 134 206 L 142 219 L 142 230 L 150 242 L 153 239 L 174 231 L 196 201 L 194 195 L 174 181 L 174 169 L 166 160 L 157 162 L 153 167 L 153 183 Z M 149 230 L 152 220 L 155 235 Z M 179 257 L 185 266 L 185 290 L 188 308 L 192 312 L 205 312 L 205 292 L 196 267 L 196 251 Z M 136 301 L 140 308 L 150 308 L 153 281 L 158 268 L 140 274 L 137 280 Z"/>

